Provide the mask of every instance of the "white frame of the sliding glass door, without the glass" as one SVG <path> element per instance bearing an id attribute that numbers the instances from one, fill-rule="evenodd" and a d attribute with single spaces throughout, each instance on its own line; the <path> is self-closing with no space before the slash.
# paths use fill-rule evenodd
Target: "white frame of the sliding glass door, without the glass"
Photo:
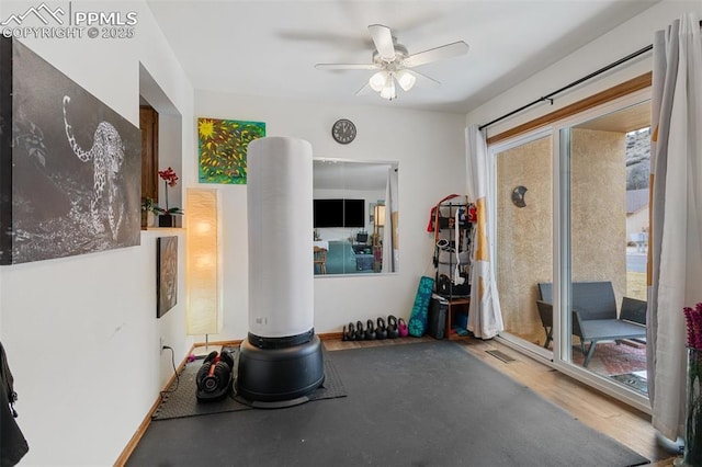
<path id="1" fill-rule="evenodd" d="M 523 145 L 544 136 L 552 136 L 552 167 L 553 167 L 553 352 L 539 348 L 523 339 L 501 332 L 496 339 L 525 354 L 536 355 L 543 362 L 590 387 L 593 387 L 618 400 L 621 400 L 636 409 L 650 414 L 648 397 L 627 389 L 605 376 L 597 375 L 587 368 L 570 362 L 571 357 L 571 323 L 568 303 L 569 272 L 571 269 L 570 255 L 570 170 L 569 170 L 569 128 L 584 122 L 597 118 L 608 113 L 616 112 L 637 103 L 650 101 L 650 89 L 644 89 L 631 94 L 618 98 L 604 104 L 582 111 L 578 114 L 554 122 L 547 127 L 542 127 L 510 138 L 488 147 L 491 200 L 497 200 L 497 155 L 512 147 Z M 490 225 L 497 226 L 497 209 L 491 203 L 488 213 Z M 491 258 L 497 258 L 495 242 L 490 246 Z"/>

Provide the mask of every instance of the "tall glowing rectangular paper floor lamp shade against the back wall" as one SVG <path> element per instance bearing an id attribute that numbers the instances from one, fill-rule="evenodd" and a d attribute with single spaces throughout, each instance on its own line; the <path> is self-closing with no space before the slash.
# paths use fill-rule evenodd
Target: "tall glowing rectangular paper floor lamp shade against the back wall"
<path id="1" fill-rule="evenodd" d="M 217 195 L 216 190 L 188 189 L 186 192 L 189 334 L 216 334 L 222 327 Z"/>

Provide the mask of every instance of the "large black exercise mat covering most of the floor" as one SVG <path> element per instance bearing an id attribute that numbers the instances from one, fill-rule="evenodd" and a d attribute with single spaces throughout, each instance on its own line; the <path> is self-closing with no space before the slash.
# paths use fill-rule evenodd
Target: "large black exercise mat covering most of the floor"
<path id="1" fill-rule="evenodd" d="M 327 352 L 348 397 L 151 423 L 128 466 L 618 467 L 648 460 L 438 340 Z"/>

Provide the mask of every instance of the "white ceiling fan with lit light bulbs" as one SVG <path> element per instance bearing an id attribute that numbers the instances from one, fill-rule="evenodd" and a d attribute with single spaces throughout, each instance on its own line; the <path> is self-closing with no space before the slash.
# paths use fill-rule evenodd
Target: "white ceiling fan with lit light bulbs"
<path id="1" fill-rule="evenodd" d="M 369 32 L 375 44 L 372 64 L 317 64 L 315 68 L 318 70 L 377 70 L 369 79 L 367 84 L 356 92 L 356 95 L 365 93 L 371 88 L 380 93 L 381 98 L 392 101 L 397 98 L 396 81 L 406 92 L 412 89 L 418 80 L 440 84 L 435 79 L 411 68 L 468 53 L 468 44 L 458 41 L 409 55 L 407 47 L 397 42 L 388 26 L 371 24 Z"/>

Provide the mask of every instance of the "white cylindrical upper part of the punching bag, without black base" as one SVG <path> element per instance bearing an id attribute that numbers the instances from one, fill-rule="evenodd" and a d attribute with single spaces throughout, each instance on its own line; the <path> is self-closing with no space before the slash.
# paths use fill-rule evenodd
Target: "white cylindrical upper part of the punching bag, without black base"
<path id="1" fill-rule="evenodd" d="M 249 332 L 302 334 L 314 327 L 312 145 L 256 139 L 247 159 Z"/>

